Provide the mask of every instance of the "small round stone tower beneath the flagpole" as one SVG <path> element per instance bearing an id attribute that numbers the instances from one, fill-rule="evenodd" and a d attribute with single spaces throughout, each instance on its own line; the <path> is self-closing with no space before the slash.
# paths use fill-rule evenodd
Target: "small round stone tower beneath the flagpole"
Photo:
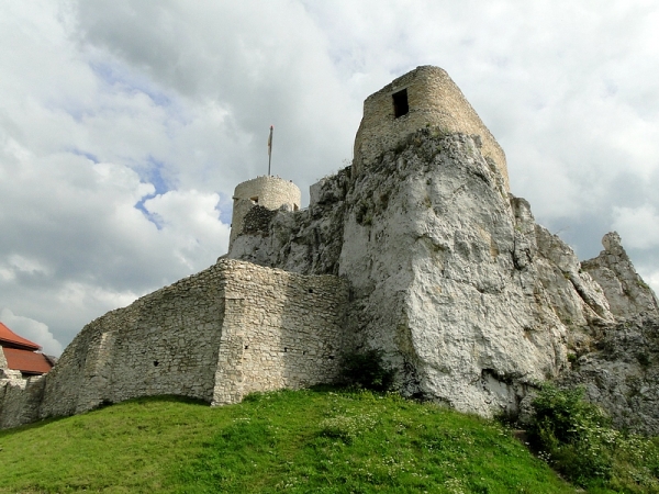
<path id="1" fill-rule="evenodd" d="M 291 211 L 298 211 L 301 199 L 302 193 L 298 186 L 279 177 L 263 176 L 238 183 L 233 195 L 230 250 L 235 238 L 243 232 L 243 221 L 249 210 L 261 206 L 275 211 L 282 205 L 289 205 Z"/>

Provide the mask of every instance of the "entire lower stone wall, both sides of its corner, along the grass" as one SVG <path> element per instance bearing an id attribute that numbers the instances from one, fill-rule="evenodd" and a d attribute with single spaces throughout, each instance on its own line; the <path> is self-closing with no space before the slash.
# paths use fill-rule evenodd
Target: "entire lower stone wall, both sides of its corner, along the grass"
<path id="1" fill-rule="evenodd" d="M 220 260 L 91 322 L 43 378 L 0 384 L 0 428 L 138 396 L 226 404 L 330 382 L 347 297 L 337 277 Z"/>

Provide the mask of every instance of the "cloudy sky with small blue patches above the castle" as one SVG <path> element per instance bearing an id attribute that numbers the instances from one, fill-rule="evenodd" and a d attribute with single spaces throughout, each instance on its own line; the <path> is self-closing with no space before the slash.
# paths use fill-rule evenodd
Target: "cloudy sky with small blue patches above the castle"
<path id="1" fill-rule="evenodd" d="M 226 252 L 231 198 L 350 162 L 364 100 L 448 71 L 513 194 L 580 259 L 617 231 L 659 291 L 656 0 L 4 0 L 0 321 L 59 355 Z"/>

